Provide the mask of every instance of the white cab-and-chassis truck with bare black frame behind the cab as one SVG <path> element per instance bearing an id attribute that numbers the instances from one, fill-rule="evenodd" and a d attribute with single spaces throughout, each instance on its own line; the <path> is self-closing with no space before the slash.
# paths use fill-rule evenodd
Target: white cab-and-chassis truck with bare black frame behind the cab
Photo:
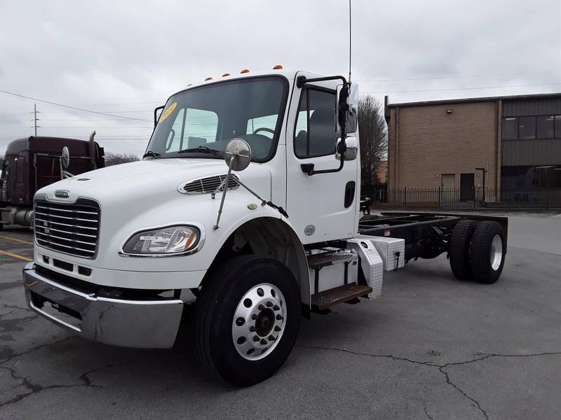
<path id="1" fill-rule="evenodd" d="M 496 281 L 506 218 L 360 220 L 357 104 L 342 76 L 278 66 L 173 94 L 144 160 L 37 191 L 29 308 L 116 346 L 169 348 L 191 323 L 203 363 L 248 386 L 302 316 L 378 297 L 409 260 L 447 253 L 457 277 Z"/>

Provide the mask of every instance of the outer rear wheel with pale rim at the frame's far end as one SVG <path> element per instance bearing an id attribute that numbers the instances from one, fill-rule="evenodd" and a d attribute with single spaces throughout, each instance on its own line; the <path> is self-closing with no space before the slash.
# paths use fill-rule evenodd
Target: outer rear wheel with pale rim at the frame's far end
<path id="1" fill-rule="evenodd" d="M 500 263 L 496 259 L 494 260 L 494 250 L 497 249 L 493 245 L 494 237 L 501 239 L 501 250 L 496 252 L 496 258 L 499 258 L 500 255 Z M 471 237 L 469 253 L 473 279 L 480 283 L 494 283 L 497 281 L 503 271 L 506 255 L 506 240 L 501 225 L 492 221 L 480 222 L 477 228 L 475 228 L 475 232 L 473 232 L 473 237 Z"/>

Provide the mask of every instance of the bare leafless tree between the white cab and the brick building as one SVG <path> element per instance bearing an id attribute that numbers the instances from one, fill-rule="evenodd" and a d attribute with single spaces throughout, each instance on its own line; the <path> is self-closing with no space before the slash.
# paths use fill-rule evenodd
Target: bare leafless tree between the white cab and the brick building
<path id="1" fill-rule="evenodd" d="M 369 189 L 380 183 L 377 170 L 388 151 L 388 130 L 384 109 L 375 97 L 366 95 L 358 105 L 360 166 L 362 184 Z"/>

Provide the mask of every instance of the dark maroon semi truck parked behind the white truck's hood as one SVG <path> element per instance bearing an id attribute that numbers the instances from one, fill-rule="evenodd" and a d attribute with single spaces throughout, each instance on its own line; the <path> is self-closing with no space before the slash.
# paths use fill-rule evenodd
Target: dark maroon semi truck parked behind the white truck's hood
<path id="1" fill-rule="evenodd" d="M 36 190 L 68 176 L 104 167 L 104 152 L 94 140 L 25 137 L 8 144 L 0 173 L 0 229 L 32 226 Z"/>

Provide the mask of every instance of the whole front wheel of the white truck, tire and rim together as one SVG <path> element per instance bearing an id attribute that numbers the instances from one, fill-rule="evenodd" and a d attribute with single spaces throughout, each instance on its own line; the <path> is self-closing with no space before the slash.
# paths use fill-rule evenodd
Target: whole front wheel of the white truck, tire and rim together
<path id="1" fill-rule="evenodd" d="M 277 260 L 243 255 L 205 281 L 195 308 L 197 351 L 203 363 L 237 386 L 274 374 L 295 344 L 299 287 Z"/>

